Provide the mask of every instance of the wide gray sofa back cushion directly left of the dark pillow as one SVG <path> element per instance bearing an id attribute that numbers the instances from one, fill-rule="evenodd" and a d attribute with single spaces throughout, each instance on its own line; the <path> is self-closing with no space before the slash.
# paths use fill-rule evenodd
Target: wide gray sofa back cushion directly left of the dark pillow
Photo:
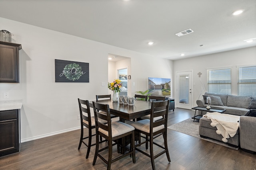
<path id="1" fill-rule="evenodd" d="M 234 96 L 228 94 L 227 106 L 248 108 L 250 102 L 251 96 Z"/>

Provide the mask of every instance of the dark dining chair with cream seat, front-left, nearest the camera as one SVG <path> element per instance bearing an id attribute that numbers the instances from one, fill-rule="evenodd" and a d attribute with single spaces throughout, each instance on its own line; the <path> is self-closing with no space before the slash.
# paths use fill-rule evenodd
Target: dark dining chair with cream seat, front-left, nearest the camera
<path id="1" fill-rule="evenodd" d="M 94 116 L 95 116 L 95 128 L 96 128 L 96 149 L 94 154 L 94 159 L 92 165 L 95 165 L 97 157 L 103 160 L 107 164 L 107 170 L 110 170 L 111 164 L 124 158 L 125 156 L 131 155 L 132 162 L 135 163 L 135 149 L 134 149 L 134 127 L 126 123 L 115 121 L 111 122 L 110 109 L 108 104 L 99 104 L 93 102 Z M 99 121 L 99 119 L 107 121 L 106 124 Z M 108 141 L 108 146 L 102 149 L 99 149 L 99 136 L 104 137 Z M 118 143 L 118 139 L 129 136 L 131 139 L 130 149 L 125 146 L 122 146 Z M 114 142 L 114 144 L 112 143 Z M 112 147 L 113 145 L 118 145 L 122 149 L 127 150 L 128 152 L 112 158 Z M 119 148 L 119 147 L 118 147 Z M 108 160 L 106 160 L 100 152 L 108 149 Z"/>

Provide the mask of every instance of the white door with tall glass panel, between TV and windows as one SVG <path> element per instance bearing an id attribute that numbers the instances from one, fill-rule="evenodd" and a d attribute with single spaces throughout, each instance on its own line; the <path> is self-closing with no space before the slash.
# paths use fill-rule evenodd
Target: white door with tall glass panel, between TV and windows
<path id="1" fill-rule="evenodd" d="M 177 75 L 177 107 L 192 108 L 192 71 L 176 72 Z"/>

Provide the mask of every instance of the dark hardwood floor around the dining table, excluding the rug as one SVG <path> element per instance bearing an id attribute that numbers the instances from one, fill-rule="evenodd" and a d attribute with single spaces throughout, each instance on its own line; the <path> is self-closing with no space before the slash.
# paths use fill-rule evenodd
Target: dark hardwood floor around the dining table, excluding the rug
<path id="1" fill-rule="evenodd" d="M 194 111 L 186 109 L 176 108 L 174 111 L 169 111 L 168 126 L 191 118 L 193 115 Z M 86 130 L 85 133 L 87 133 Z M 80 130 L 76 130 L 22 143 L 20 153 L 0 158 L 0 170 L 106 169 L 106 164 L 100 158 L 92 166 L 95 146 L 91 148 L 88 159 L 85 158 L 87 147 L 82 145 L 78 150 L 79 138 Z M 157 141 L 163 143 L 162 137 L 159 137 Z M 256 169 L 256 155 L 241 149 L 223 147 L 170 129 L 168 129 L 168 147 L 171 162 L 168 162 L 165 154 L 156 158 L 155 165 L 159 170 Z M 114 151 L 116 151 L 116 146 Z M 155 147 L 154 153 L 158 151 L 160 149 Z M 151 169 L 150 158 L 136 151 L 135 164 L 128 156 L 114 162 L 111 169 L 148 170 Z"/>

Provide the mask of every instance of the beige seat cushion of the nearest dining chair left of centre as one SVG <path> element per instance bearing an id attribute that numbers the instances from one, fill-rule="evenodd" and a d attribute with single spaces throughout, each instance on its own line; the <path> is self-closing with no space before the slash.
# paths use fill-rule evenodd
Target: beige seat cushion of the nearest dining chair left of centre
<path id="1" fill-rule="evenodd" d="M 122 135 L 124 133 L 128 133 L 130 131 L 134 131 L 134 127 L 131 125 L 128 125 L 126 123 L 115 121 L 111 123 L 111 129 L 112 129 L 112 137 L 116 137 L 118 135 Z M 105 131 L 101 128 L 99 128 L 99 131 L 104 133 L 108 136 L 108 131 Z"/>

